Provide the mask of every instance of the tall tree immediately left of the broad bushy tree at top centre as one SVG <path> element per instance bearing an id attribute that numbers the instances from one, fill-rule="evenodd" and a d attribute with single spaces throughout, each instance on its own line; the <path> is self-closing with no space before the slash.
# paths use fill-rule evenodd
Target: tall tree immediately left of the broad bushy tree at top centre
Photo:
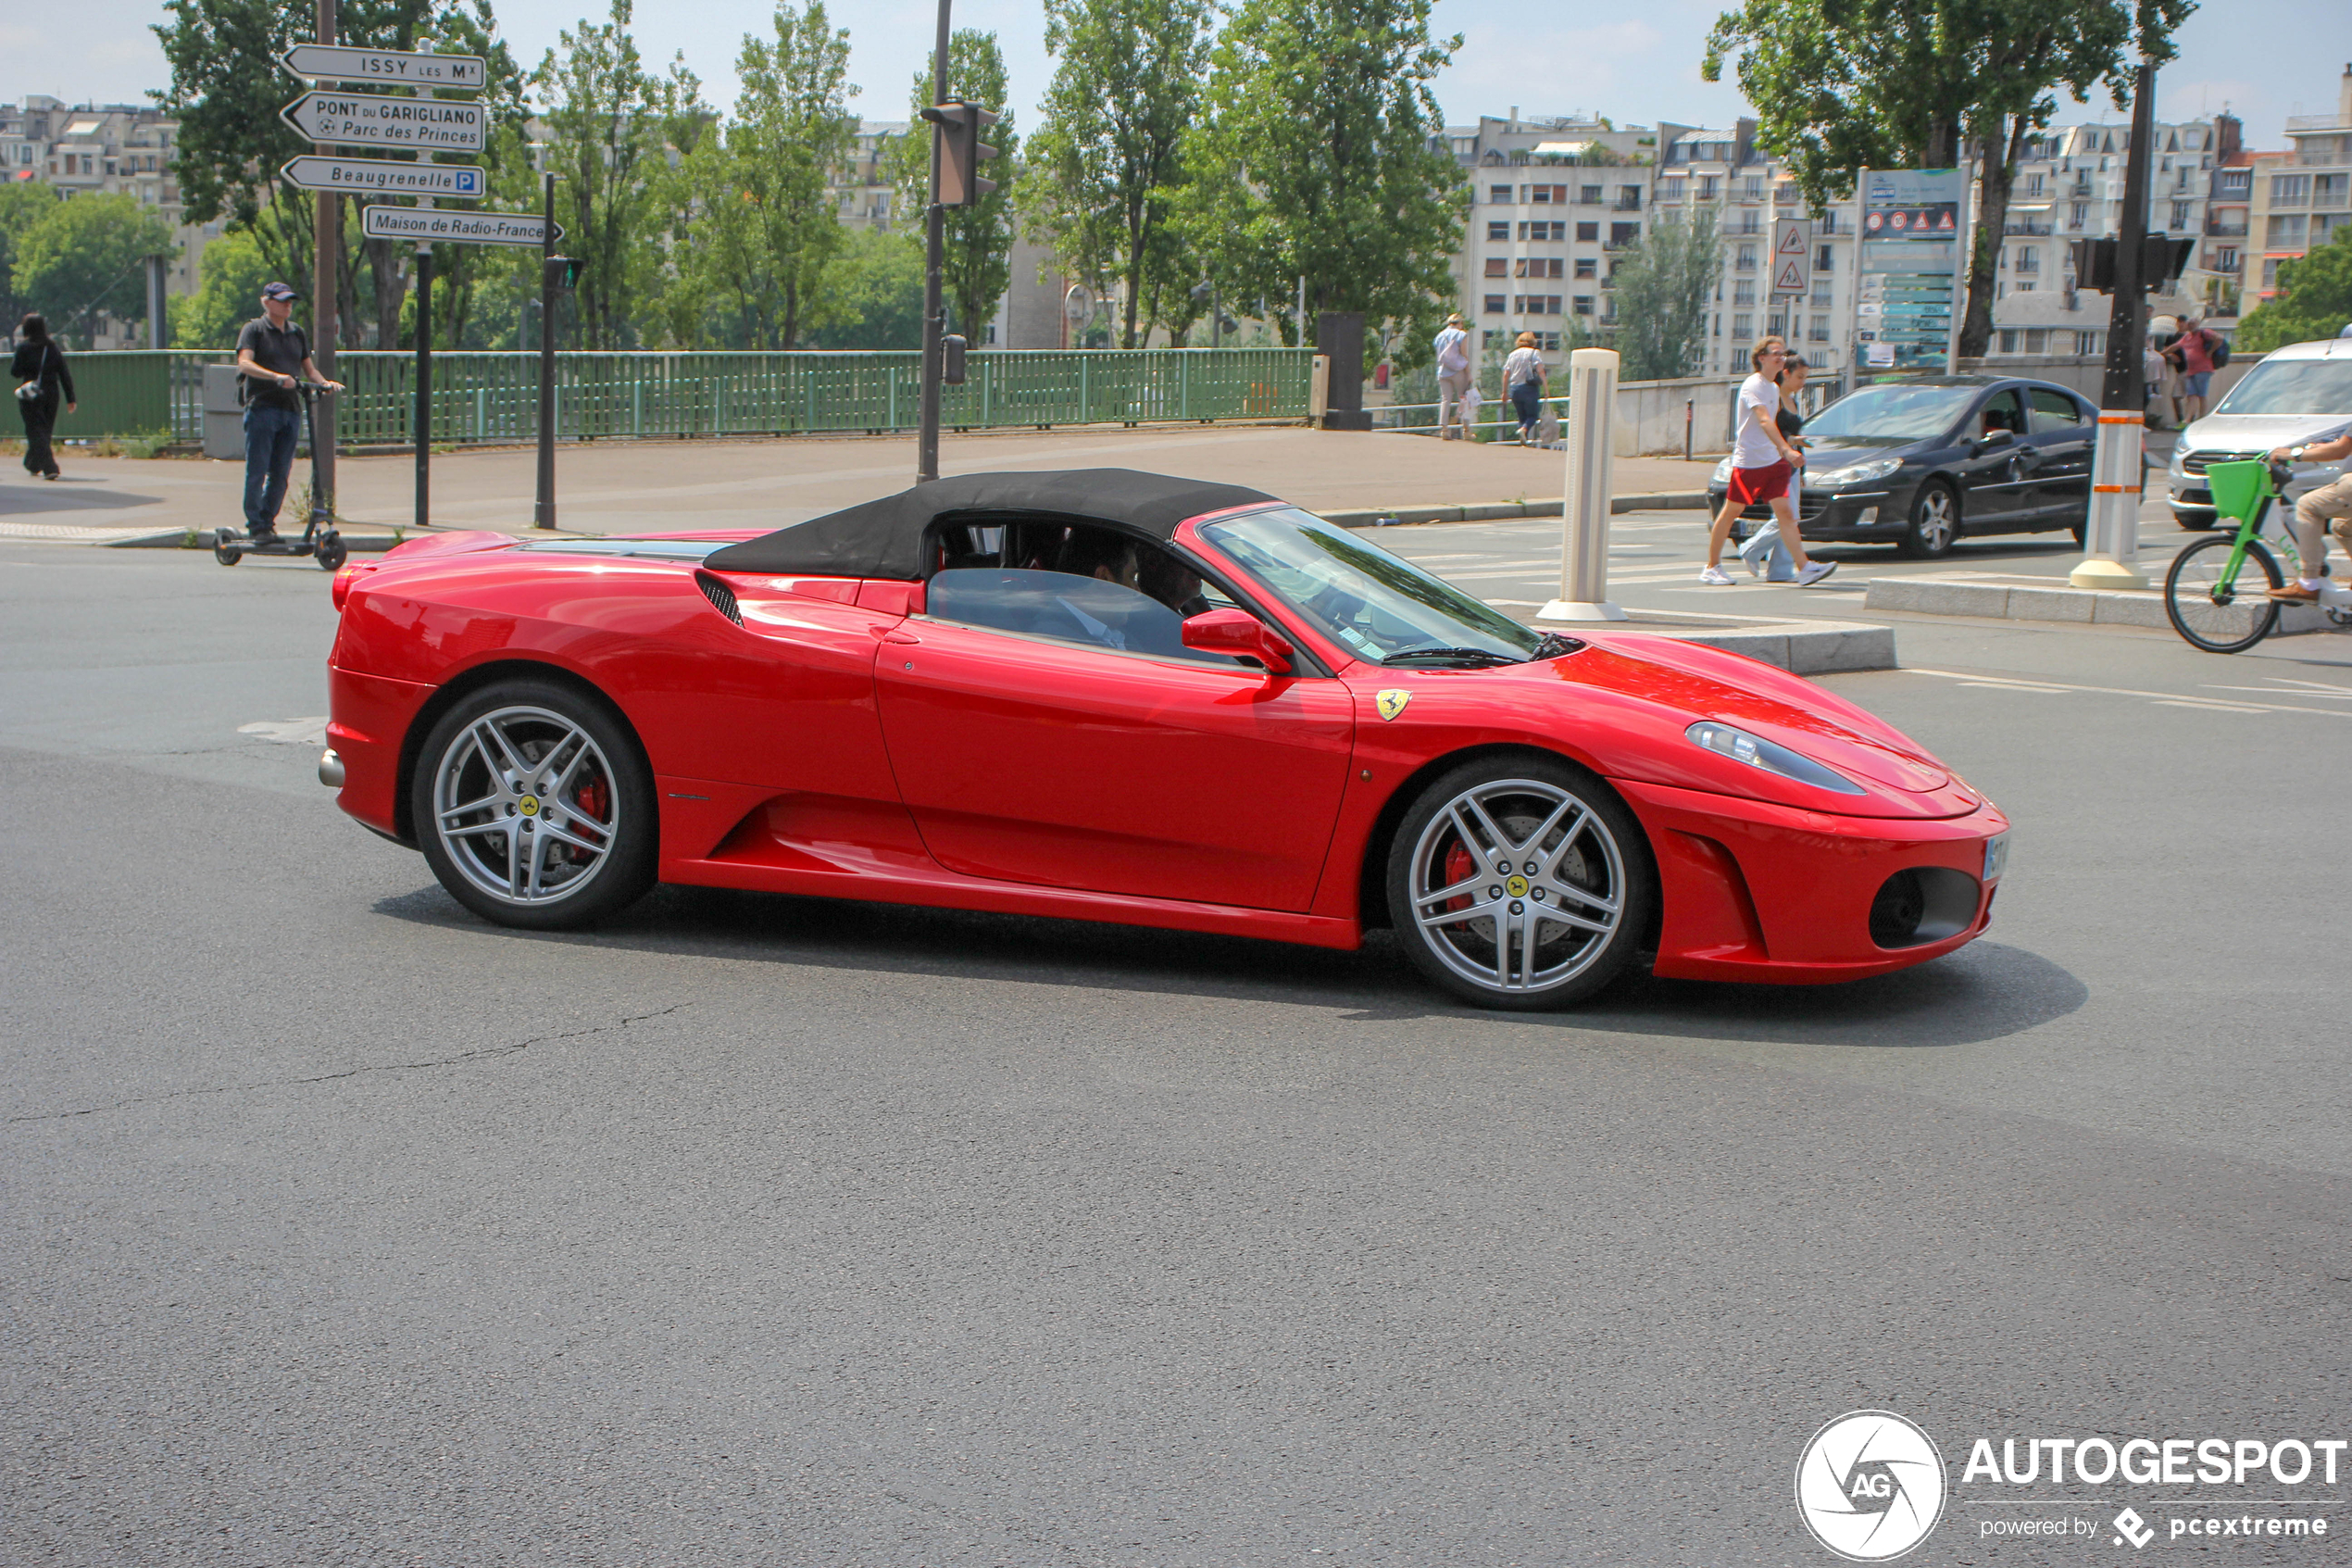
<path id="1" fill-rule="evenodd" d="M 1145 268 L 1169 242 L 1169 188 L 1207 42 L 1209 0 L 1047 0 L 1044 47 L 1058 63 L 1021 209 L 1065 275 L 1127 284 L 1127 348 Z"/>

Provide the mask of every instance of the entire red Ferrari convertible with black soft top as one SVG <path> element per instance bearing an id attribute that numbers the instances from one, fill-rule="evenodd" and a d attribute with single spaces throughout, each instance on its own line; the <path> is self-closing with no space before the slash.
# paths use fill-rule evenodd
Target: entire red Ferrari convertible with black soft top
<path id="1" fill-rule="evenodd" d="M 960 475 L 336 574 L 320 778 L 506 926 L 656 882 L 1357 947 L 1482 1006 L 1952 952 L 2009 820 L 1853 703 L 1538 632 L 1275 496 Z"/>

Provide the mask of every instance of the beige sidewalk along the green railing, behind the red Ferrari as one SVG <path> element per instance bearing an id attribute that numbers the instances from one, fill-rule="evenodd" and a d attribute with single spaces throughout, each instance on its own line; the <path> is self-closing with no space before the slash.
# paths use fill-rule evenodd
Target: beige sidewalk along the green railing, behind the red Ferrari
<path id="1" fill-rule="evenodd" d="M 242 527 L 242 463 L 87 458 L 61 451 L 66 480 L 0 482 L 0 538 L 106 543 Z M 1251 484 L 1312 510 L 1406 508 L 1442 515 L 1479 503 L 1559 496 L 1566 456 L 1529 447 L 1303 425 L 1174 425 L 950 435 L 941 473 L 1016 468 L 1148 468 Z M 1703 491 L 1715 458 L 1618 458 L 1616 489 Z M 581 534 L 776 529 L 913 484 L 910 437 L 567 442 L 555 456 L 557 522 Z M 414 517 L 412 456 L 346 456 L 346 534 L 405 529 Z M 308 463 L 294 465 L 294 489 Z M 433 458 L 433 524 L 522 531 L 532 522 L 536 451 L 452 451 Z M 292 498 L 289 498 L 292 505 Z M 280 517 L 280 527 L 287 517 Z M 294 527 L 301 527 L 294 520 Z"/>

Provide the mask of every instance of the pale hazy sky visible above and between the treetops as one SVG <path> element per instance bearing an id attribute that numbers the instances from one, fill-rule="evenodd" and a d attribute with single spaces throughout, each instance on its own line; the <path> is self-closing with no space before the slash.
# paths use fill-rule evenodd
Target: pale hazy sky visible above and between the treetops
<path id="1" fill-rule="evenodd" d="M 607 0 L 609 2 L 609 0 Z M 583 0 L 494 0 L 515 56 L 534 63 Z M 931 52 L 936 0 L 835 0 L 833 19 L 849 26 L 851 99 L 868 120 L 903 120 L 908 89 Z M 1437 0 L 1437 33 L 1463 35 L 1454 66 L 1437 80 L 1437 103 L 1451 125 L 1479 113 L 1604 113 L 1618 125 L 1677 120 L 1729 125 L 1740 113 L 1738 87 L 1698 80 L 1708 28 L 1724 0 L 1644 0 L 1637 7 L 1548 7 L 1541 0 Z M 82 101 L 143 101 L 162 87 L 162 49 L 148 31 L 162 19 L 153 0 L 80 0 L 73 26 L 33 16 L 31 0 L 0 14 L 0 99 L 40 92 Z M 720 106 L 734 99 L 734 56 L 743 33 L 771 31 L 764 0 L 640 0 L 637 47 L 649 61 L 684 52 Z M 1004 47 L 1016 129 L 1037 122 L 1037 94 L 1051 75 L 1044 12 L 1037 0 L 955 0 L 955 26 L 990 28 Z M 2157 80 L 2157 115 L 2187 120 L 2230 106 L 2258 148 L 2286 146 L 2284 120 L 2336 108 L 2338 80 L 2352 63 L 2352 5 L 2345 0 L 2204 0 L 2180 31 L 2180 59 Z M 292 99 L 292 82 L 287 96 Z M 2105 99 L 2060 113 L 2122 118 Z"/>

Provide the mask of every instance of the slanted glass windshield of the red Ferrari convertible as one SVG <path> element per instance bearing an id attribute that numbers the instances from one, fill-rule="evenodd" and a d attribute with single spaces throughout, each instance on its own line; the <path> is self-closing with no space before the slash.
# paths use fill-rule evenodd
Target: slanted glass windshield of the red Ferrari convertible
<path id="1" fill-rule="evenodd" d="M 1202 536 L 1367 663 L 1522 663 L 1566 651 L 1461 588 L 1298 508 L 1211 522 Z"/>

